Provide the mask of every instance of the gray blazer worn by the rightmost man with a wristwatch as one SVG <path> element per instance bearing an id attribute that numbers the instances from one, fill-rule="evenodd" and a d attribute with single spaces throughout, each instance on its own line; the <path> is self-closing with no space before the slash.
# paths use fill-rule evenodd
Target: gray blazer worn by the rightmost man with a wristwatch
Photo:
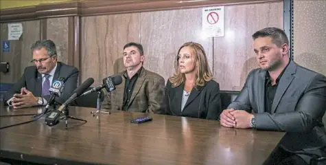
<path id="1" fill-rule="evenodd" d="M 265 109 L 266 71 L 254 69 L 228 109 L 255 113 L 257 129 L 286 131 L 281 146 L 290 151 L 316 150 L 326 145 L 323 115 L 326 78 L 290 61 L 281 76 L 271 113 Z"/>

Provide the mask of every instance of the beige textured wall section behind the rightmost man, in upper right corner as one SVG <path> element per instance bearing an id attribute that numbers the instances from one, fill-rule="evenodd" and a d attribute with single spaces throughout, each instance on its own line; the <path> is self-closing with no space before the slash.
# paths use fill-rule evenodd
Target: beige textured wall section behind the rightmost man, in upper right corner
<path id="1" fill-rule="evenodd" d="M 326 75 L 326 1 L 294 1 L 294 61 Z"/>

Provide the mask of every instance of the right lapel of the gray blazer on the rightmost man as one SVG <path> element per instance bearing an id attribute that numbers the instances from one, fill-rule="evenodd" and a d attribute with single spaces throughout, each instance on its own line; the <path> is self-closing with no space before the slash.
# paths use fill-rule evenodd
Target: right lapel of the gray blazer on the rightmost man
<path id="1" fill-rule="evenodd" d="M 281 100 L 283 94 L 286 92 L 286 89 L 288 89 L 289 85 L 291 84 L 294 78 L 292 74 L 295 74 L 295 72 L 296 65 L 294 65 L 294 63 L 290 61 L 288 68 L 286 68 L 283 73 L 283 76 L 281 76 L 281 79 L 279 80 L 279 85 L 277 87 L 276 94 L 272 102 L 272 109 L 270 111 L 271 113 L 275 112 L 277 105 L 279 105 L 279 101 Z"/>

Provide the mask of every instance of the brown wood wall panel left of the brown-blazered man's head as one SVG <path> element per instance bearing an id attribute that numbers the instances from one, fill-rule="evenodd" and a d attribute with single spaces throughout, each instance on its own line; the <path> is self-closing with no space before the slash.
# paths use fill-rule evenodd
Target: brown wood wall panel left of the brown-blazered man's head
<path id="1" fill-rule="evenodd" d="M 124 69 L 121 60 L 124 45 L 140 41 L 139 16 L 133 13 L 82 17 L 81 82 L 93 77 L 94 85 L 102 84 L 103 78 Z"/>

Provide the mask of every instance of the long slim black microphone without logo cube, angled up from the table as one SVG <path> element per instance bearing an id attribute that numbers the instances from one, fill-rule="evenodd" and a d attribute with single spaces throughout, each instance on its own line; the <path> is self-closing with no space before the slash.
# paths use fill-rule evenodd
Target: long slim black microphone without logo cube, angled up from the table
<path id="1" fill-rule="evenodd" d="M 49 126 L 53 126 L 53 125 L 57 124 L 58 123 L 58 118 L 59 118 L 60 114 L 62 113 L 63 109 L 65 109 L 68 104 L 70 104 L 71 102 L 73 102 L 73 100 L 75 100 L 75 98 L 77 98 L 78 96 L 80 96 L 80 94 L 82 94 L 93 83 L 94 83 L 94 79 L 93 78 L 87 78 L 87 80 L 85 80 L 84 83 L 82 83 L 82 85 L 80 85 L 77 89 L 75 89 L 73 91 L 72 96 L 70 98 L 68 98 L 68 100 L 66 100 L 58 108 L 58 110 L 52 111 L 49 115 L 47 115 L 47 117 L 45 118 L 45 124 L 47 124 Z"/>

